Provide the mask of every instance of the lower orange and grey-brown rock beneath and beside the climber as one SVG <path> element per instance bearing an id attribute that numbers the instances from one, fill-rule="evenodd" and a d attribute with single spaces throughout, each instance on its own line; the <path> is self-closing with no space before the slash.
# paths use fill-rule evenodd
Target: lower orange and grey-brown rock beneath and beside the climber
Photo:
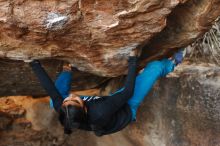
<path id="1" fill-rule="evenodd" d="M 101 138 L 83 131 L 63 135 L 48 98 L 0 98 L 1 146 L 219 146 L 219 88 L 219 67 L 181 65 L 157 82 L 136 123 Z"/>

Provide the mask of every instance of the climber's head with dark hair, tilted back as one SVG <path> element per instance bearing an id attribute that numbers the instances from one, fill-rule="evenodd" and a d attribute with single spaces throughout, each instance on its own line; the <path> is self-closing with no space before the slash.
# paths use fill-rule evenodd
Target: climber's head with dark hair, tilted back
<path id="1" fill-rule="evenodd" d="M 81 123 L 86 121 L 87 109 L 84 101 L 75 94 L 70 94 L 60 108 L 59 120 L 64 126 L 66 134 L 71 133 L 71 129 L 78 128 Z"/>

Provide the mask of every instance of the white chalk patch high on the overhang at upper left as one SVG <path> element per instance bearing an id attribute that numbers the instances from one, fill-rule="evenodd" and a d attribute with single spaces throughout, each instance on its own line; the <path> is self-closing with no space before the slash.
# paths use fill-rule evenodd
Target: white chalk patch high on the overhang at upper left
<path id="1" fill-rule="evenodd" d="M 58 13 L 49 13 L 45 21 L 45 26 L 47 29 L 52 30 L 62 29 L 68 19 L 68 16 L 63 16 Z"/>

